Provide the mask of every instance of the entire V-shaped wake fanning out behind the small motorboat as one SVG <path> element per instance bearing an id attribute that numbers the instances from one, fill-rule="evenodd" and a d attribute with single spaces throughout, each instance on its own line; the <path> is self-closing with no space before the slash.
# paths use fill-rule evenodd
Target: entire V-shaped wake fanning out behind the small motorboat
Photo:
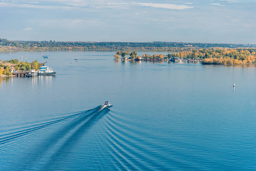
<path id="1" fill-rule="evenodd" d="M 147 127 L 115 109 L 109 112 L 108 107 L 106 101 L 0 135 L 1 169 L 177 170 L 180 165 L 189 169 L 188 162 L 179 158 L 176 141 L 167 140 L 166 149 Z"/>

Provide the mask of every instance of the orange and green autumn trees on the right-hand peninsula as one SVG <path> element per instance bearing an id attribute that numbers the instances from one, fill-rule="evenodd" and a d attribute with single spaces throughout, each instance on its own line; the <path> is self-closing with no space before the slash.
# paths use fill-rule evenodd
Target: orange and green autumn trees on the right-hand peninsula
<path id="1" fill-rule="evenodd" d="M 173 59 L 174 57 L 182 59 L 198 59 L 202 64 L 251 64 L 255 63 L 256 49 L 255 48 L 207 48 L 207 49 L 193 49 L 192 51 L 180 51 L 168 55 L 154 54 L 137 56 L 137 53 L 129 51 L 117 51 L 115 59 L 129 59 L 131 60 L 165 60 Z M 121 56 L 121 58 L 120 58 Z"/>

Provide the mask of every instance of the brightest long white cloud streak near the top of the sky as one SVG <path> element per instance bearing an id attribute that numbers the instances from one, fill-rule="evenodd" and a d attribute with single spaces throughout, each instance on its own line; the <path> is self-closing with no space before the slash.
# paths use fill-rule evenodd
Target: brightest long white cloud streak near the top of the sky
<path id="1" fill-rule="evenodd" d="M 163 8 L 163 9 L 172 9 L 172 10 L 184 10 L 184 9 L 193 8 L 193 6 L 174 5 L 169 3 L 109 3 L 109 5 L 137 5 L 137 6 L 149 6 L 154 8 Z"/>

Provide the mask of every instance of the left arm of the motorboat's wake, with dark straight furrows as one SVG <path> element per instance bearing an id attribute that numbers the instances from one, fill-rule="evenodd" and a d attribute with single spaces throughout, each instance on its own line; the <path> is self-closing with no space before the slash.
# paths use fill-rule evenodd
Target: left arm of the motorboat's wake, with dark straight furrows
<path id="1" fill-rule="evenodd" d="M 31 146 L 26 149 L 25 153 L 22 153 L 19 160 L 6 161 L 8 165 L 2 166 L 5 166 L 5 169 L 43 169 L 55 155 L 58 155 L 63 148 L 74 144 L 108 111 L 108 107 L 99 105 L 87 111 L 72 113 L 0 135 L 0 152 L 2 151 L 3 156 L 5 156 L 5 150 L 6 153 L 9 153 L 8 149 L 14 150 L 14 146 L 18 146 L 18 144 L 25 143 L 29 146 L 32 139 Z M 43 139 L 42 137 L 37 138 L 39 135 Z M 5 160 L 5 158 L 2 159 Z"/>

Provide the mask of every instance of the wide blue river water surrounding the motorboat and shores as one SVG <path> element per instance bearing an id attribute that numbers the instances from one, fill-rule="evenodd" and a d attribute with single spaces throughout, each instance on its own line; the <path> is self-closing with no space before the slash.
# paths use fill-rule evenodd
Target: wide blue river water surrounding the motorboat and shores
<path id="1" fill-rule="evenodd" d="M 0 170 L 256 170 L 254 65 L 114 54 L 0 54 L 57 72 L 0 79 Z"/>

